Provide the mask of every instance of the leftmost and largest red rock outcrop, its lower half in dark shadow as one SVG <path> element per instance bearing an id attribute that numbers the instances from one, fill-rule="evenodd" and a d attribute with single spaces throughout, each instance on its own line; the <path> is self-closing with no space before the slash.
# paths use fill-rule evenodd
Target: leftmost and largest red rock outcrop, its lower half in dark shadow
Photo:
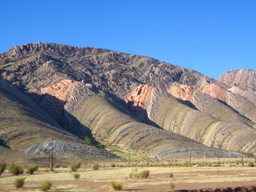
<path id="1" fill-rule="evenodd" d="M 47 111 L 55 120 L 58 120 L 64 105 L 68 101 L 70 90 L 75 83 L 75 81 L 64 79 L 50 87 L 42 87 L 41 93 L 43 97 L 39 103 L 40 107 Z"/>

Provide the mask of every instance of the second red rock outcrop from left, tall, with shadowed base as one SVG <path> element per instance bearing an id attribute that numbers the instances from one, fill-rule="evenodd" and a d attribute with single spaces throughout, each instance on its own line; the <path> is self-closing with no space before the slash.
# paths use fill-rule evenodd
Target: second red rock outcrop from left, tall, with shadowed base
<path id="1" fill-rule="evenodd" d="M 147 117 L 147 99 L 151 88 L 150 85 L 140 84 L 134 89 L 131 95 L 125 99 L 125 107 L 139 120 L 145 120 Z"/>

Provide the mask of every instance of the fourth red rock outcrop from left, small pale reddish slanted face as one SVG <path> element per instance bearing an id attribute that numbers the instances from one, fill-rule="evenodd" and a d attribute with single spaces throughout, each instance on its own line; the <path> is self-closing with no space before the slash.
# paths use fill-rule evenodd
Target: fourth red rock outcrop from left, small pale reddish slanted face
<path id="1" fill-rule="evenodd" d="M 208 85 L 202 91 L 207 95 L 210 95 L 211 97 L 216 98 L 217 100 L 226 102 L 227 90 L 220 87 L 217 84 Z"/>

